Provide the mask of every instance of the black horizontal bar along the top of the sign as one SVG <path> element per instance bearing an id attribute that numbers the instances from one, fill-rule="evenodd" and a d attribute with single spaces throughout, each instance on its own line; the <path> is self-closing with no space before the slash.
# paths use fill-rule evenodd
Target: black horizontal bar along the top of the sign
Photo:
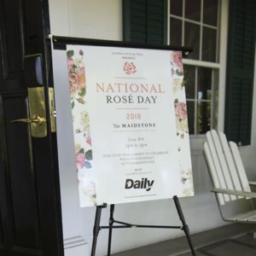
<path id="1" fill-rule="evenodd" d="M 189 55 L 192 49 L 189 47 L 173 47 L 170 45 L 159 44 L 142 44 L 133 42 L 100 40 L 90 38 L 71 38 L 52 36 L 54 49 L 66 49 L 67 44 L 79 45 L 96 45 L 96 46 L 111 46 L 111 47 L 125 47 L 125 48 L 141 48 L 141 49 L 166 49 L 166 50 L 180 50 L 183 52 L 183 57 Z"/>

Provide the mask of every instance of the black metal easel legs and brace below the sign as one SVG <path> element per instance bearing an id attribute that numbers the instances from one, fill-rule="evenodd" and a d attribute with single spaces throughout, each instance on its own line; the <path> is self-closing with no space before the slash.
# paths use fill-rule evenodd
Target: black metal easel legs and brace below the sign
<path id="1" fill-rule="evenodd" d="M 189 234 L 189 226 L 186 224 L 182 207 L 179 203 L 177 196 L 173 196 L 173 201 L 175 203 L 175 207 L 177 209 L 178 217 L 180 218 L 182 225 L 181 226 L 165 226 L 165 225 L 142 225 L 142 224 L 129 224 L 123 221 L 118 221 L 113 218 L 114 212 L 114 205 L 110 205 L 110 215 L 109 215 L 109 225 L 108 226 L 101 226 L 101 215 L 102 215 L 102 208 L 106 208 L 107 204 L 103 204 L 102 206 L 96 207 L 96 217 L 95 223 L 93 228 L 93 240 L 92 240 L 92 247 L 91 247 L 91 254 L 90 256 L 96 255 L 96 241 L 99 235 L 100 230 L 108 229 L 108 256 L 111 255 L 111 245 L 112 245 L 112 231 L 113 229 L 124 229 L 124 228 L 153 228 L 153 229 L 177 229 L 183 230 L 187 241 L 189 243 L 189 248 L 193 256 L 195 256 L 195 249 L 193 243 L 190 238 Z M 118 225 L 114 225 L 118 224 Z"/>

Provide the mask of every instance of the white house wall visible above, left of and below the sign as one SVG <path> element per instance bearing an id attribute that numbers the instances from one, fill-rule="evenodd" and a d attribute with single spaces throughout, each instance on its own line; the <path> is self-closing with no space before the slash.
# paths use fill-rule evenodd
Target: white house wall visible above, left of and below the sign
<path id="1" fill-rule="evenodd" d="M 120 0 L 49 0 L 49 11 L 51 32 L 54 35 L 122 39 Z M 73 159 L 74 146 L 67 84 L 66 52 L 54 50 L 53 61 L 65 253 L 66 256 L 86 256 L 90 255 L 95 208 L 79 207 L 76 168 Z M 256 93 L 254 95 L 256 96 Z M 220 109 L 224 108 L 224 96 L 222 98 Z M 253 105 L 253 116 L 255 116 L 255 111 L 256 103 Z M 191 139 L 195 196 L 180 199 L 192 233 L 224 224 L 219 216 L 215 198 L 209 192 L 211 182 L 201 153 L 203 141 L 204 137 Z M 255 150 L 255 145 L 256 120 L 254 118 L 253 146 L 250 148 Z M 247 155 L 253 154 L 249 154 L 250 148 L 245 148 L 242 153 L 247 160 L 247 166 L 252 169 L 254 163 L 252 159 L 247 159 Z M 115 218 L 134 224 L 180 224 L 172 200 L 117 205 Z M 102 224 L 108 224 L 108 210 L 102 212 Z M 177 236 L 183 236 L 183 232 L 180 230 L 114 230 L 113 252 Z M 102 230 L 98 238 L 97 255 L 106 254 L 107 242 L 108 232 Z"/>

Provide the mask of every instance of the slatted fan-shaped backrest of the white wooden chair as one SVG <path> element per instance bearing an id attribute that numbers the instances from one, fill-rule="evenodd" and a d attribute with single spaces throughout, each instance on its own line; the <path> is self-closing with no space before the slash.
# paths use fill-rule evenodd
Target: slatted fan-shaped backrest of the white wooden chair
<path id="1" fill-rule="evenodd" d="M 212 175 L 212 183 L 216 189 L 251 192 L 236 143 L 228 143 L 223 132 L 207 131 L 204 152 Z M 220 205 L 230 200 L 235 201 L 237 198 L 241 197 L 218 194 Z"/>

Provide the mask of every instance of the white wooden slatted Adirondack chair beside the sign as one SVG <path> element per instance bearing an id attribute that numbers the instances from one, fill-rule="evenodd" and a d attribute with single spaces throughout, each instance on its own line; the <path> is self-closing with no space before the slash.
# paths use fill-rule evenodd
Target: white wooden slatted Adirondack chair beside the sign
<path id="1" fill-rule="evenodd" d="M 236 143 L 228 143 L 223 132 L 207 131 L 204 154 L 224 221 L 256 224 L 256 193 L 250 189 L 256 183 L 248 182 Z"/>

